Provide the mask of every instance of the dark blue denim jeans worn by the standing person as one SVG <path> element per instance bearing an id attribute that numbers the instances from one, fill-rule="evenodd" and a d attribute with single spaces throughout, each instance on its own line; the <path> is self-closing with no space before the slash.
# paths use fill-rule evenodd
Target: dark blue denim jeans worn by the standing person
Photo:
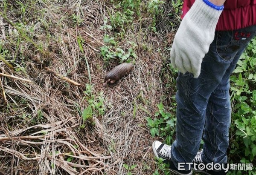
<path id="1" fill-rule="evenodd" d="M 256 35 L 256 25 L 235 31 L 216 31 L 205 55 L 201 74 L 189 72 L 177 77 L 176 140 L 172 160 L 190 163 L 200 147 L 204 132 L 204 163 L 227 163 L 231 118 L 230 74 L 249 41 Z M 188 166 L 185 166 L 186 170 Z"/>

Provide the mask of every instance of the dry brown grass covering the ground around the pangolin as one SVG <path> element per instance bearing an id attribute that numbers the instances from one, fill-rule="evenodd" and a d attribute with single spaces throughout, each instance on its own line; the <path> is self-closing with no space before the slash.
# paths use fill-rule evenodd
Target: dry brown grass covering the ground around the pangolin
<path id="1" fill-rule="evenodd" d="M 20 1 L 24 6 L 14 0 L 4 2 L 0 54 L 15 68 L 1 61 L 0 72 L 32 83 L 0 77 L 0 174 L 122 175 L 127 173 L 123 164 L 137 165 L 133 174 L 152 174 L 153 139 L 145 118 L 153 117 L 156 104 L 166 95 L 160 73 L 164 47 L 173 34 L 143 28 L 152 19 L 134 21 L 119 40 L 123 49 L 129 48 L 127 41 L 137 43 L 134 69 L 118 83 L 102 86 L 106 72 L 118 64 L 113 59 L 106 66 L 99 51 L 103 35 L 111 34 L 99 29 L 109 18 L 110 2 Z M 72 14 L 81 16 L 82 22 L 76 23 Z M 84 52 L 77 37 L 83 40 Z M 103 98 L 104 111 L 100 115 L 95 110 L 84 121 L 89 77 L 93 100 Z"/>

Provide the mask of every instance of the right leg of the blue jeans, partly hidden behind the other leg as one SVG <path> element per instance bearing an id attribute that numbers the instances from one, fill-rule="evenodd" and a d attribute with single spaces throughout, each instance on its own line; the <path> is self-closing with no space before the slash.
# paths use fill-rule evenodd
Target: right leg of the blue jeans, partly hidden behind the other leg
<path id="1" fill-rule="evenodd" d="M 247 45 L 245 45 L 247 46 Z M 245 47 L 244 46 L 244 47 Z M 205 163 L 227 163 L 229 127 L 231 123 L 230 80 L 244 48 L 234 57 L 219 86 L 212 92 L 207 104 L 202 159 Z"/>

